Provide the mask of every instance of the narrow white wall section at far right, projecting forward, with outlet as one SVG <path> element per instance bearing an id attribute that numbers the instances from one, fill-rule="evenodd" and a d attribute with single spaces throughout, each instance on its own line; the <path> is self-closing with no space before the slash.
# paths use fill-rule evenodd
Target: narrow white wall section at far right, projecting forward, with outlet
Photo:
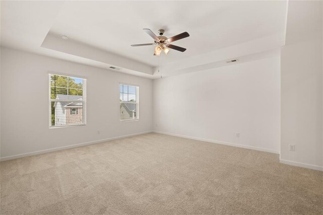
<path id="1" fill-rule="evenodd" d="M 281 64 L 281 162 L 323 170 L 321 1 L 289 1 Z"/>

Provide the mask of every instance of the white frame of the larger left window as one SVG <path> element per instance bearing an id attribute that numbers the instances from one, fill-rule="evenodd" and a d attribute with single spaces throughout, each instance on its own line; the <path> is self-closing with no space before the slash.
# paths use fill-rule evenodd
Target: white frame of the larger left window
<path id="1" fill-rule="evenodd" d="M 65 100 L 65 99 L 51 99 L 51 85 L 50 85 L 50 80 L 51 80 L 51 75 L 58 75 L 58 76 L 65 76 L 65 77 L 68 77 L 68 78 L 80 78 L 80 79 L 83 79 L 83 95 L 82 95 L 82 123 L 75 123 L 75 124 L 68 124 L 68 125 L 54 125 L 52 126 L 51 125 L 51 102 L 55 102 L 57 100 L 59 101 L 75 101 L 75 100 Z M 48 104 L 49 104 L 49 129 L 54 129 L 54 128 L 65 128 L 65 127 L 74 127 L 74 126 L 85 126 L 86 125 L 86 81 L 87 81 L 87 78 L 86 77 L 82 77 L 82 76 L 75 76 L 75 75 L 72 75 L 72 74 L 63 74 L 63 73 L 57 73 L 57 72 L 51 72 L 49 71 L 48 72 Z M 58 88 L 61 88 L 61 87 L 58 87 Z M 65 87 L 63 87 L 65 88 Z M 74 88 L 69 88 L 69 89 L 74 89 Z M 84 108 L 85 107 L 85 108 Z"/>

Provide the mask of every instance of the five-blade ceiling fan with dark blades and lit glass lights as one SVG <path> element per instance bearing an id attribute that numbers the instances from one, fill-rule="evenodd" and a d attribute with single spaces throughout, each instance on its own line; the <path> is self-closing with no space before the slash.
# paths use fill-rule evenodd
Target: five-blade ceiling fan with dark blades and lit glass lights
<path id="1" fill-rule="evenodd" d="M 155 47 L 155 52 L 153 53 L 154 56 L 160 56 L 161 50 L 163 50 L 167 55 L 167 53 L 170 51 L 170 48 L 182 52 L 186 50 L 186 48 L 170 44 L 170 42 L 189 37 L 190 35 L 187 32 L 183 32 L 181 34 L 167 38 L 166 36 L 163 36 L 165 32 L 164 29 L 158 30 L 159 36 L 156 36 L 156 34 L 154 34 L 150 29 L 144 28 L 143 30 L 154 39 L 154 43 L 135 44 L 131 46 L 157 45 Z"/>

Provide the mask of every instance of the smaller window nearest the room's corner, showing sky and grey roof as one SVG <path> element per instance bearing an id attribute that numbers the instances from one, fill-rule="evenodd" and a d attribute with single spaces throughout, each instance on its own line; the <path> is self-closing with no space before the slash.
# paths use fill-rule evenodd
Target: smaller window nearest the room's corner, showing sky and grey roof
<path id="1" fill-rule="evenodd" d="M 120 84 L 120 121 L 139 119 L 138 86 Z"/>

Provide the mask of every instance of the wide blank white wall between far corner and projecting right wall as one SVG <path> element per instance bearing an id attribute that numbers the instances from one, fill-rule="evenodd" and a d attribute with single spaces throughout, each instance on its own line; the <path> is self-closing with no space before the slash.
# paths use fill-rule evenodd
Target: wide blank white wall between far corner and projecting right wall
<path id="1" fill-rule="evenodd" d="M 153 116 L 158 132 L 279 153 L 280 56 L 154 80 Z"/>

